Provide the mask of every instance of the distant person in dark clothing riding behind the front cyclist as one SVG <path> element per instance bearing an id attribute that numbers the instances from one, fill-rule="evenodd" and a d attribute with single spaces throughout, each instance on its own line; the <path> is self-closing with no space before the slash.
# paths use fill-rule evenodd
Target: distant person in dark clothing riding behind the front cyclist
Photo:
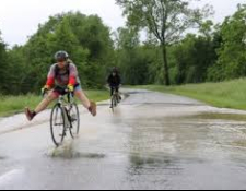
<path id="1" fill-rule="evenodd" d="M 116 93 L 118 94 L 119 96 L 119 100 L 121 99 L 120 95 L 119 95 L 119 87 L 121 85 L 121 77 L 119 75 L 119 71 L 117 68 L 114 68 L 112 70 L 112 73 L 110 75 L 108 76 L 107 79 L 107 83 L 110 87 L 110 96 L 113 96 L 114 94 L 114 91 L 116 91 Z"/>

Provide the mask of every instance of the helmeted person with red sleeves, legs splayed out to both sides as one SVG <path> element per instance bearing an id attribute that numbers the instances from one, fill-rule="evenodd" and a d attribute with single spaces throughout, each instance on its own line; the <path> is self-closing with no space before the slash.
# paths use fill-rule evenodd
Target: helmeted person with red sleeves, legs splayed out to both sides
<path id="1" fill-rule="evenodd" d="M 52 64 L 48 73 L 46 85 L 42 88 L 43 95 L 48 93 L 47 97 L 36 107 L 34 111 L 25 108 L 25 115 L 31 121 L 33 118 L 45 110 L 48 105 L 56 100 L 60 95 L 74 93 L 83 106 L 89 109 L 92 116 L 96 116 L 96 104 L 87 99 L 80 84 L 80 79 L 75 64 L 69 59 L 66 51 L 58 51 L 55 55 L 57 63 Z"/>

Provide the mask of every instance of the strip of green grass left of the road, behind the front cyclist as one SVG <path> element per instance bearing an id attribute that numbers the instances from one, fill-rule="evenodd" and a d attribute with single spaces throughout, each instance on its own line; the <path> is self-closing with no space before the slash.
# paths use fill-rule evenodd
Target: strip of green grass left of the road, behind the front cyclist
<path id="1" fill-rule="evenodd" d="M 101 102 L 108 99 L 108 92 L 106 91 L 85 91 L 90 99 Z M 28 106 L 35 108 L 42 100 L 40 96 L 0 96 L 0 116 L 10 116 L 23 111 L 24 107 Z"/>

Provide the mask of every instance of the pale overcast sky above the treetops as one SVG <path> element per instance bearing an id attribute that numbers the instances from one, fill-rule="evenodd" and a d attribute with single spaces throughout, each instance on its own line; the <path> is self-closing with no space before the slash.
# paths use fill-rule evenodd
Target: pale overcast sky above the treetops
<path id="1" fill-rule="evenodd" d="M 236 11 L 238 3 L 246 0 L 201 0 L 214 7 L 215 22 Z M 67 11 L 80 11 L 84 14 L 98 14 L 104 23 L 116 29 L 124 26 L 125 19 L 115 0 L 0 0 L 1 37 L 9 45 L 23 45 L 27 36 L 37 31 L 50 15 Z"/>

